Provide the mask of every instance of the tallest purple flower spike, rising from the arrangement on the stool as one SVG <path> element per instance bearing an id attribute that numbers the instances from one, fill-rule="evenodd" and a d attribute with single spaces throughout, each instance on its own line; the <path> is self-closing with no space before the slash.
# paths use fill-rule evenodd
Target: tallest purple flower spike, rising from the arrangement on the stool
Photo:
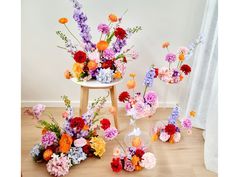
<path id="1" fill-rule="evenodd" d="M 83 42 L 85 44 L 85 50 L 86 51 L 92 51 L 96 48 L 95 44 L 91 42 L 92 36 L 90 34 L 90 28 L 86 24 L 87 16 L 81 11 L 81 4 L 78 0 L 72 0 L 74 3 L 74 15 L 73 18 L 78 24 L 78 28 L 80 30 L 80 36 L 83 39 Z"/>

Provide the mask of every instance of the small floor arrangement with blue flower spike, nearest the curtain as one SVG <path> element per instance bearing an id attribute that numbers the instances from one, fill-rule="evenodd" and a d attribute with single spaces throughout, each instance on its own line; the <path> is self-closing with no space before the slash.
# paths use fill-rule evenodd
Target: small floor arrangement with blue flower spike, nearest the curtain
<path id="1" fill-rule="evenodd" d="M 171 144 L 178 143 L 181 140 L 180 128 L 177 125 L 177 119 L 179 118 L 179 107 L 176 106 L 173 108 L 171 115 L 168 118 L 168 122 L 159 122 L 152 129 L 152 140 L 156 141 L 158 138 L 162 142 L 169 142 Z M 191 134 L 192 131 L 192 121 L 191 118 L 195 117 L 196 113 L 191 111 L 189 115 L 181 120 L 181 127 L 184 130 L 187 130 L 188 134 Z"/>

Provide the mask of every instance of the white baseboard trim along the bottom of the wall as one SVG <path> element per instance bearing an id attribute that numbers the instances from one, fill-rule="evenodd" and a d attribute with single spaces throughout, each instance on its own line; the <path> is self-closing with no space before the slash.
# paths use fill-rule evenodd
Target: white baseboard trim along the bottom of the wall
<path id="1" fill-rule="evenodd" d="M 21 101 L 21 107 L 32 107 L 36 104 L 44 104 L 47 107 L 64 107 L 64 102 L 63 101 L 26 101 L 22 100 Z M 79 101 L 71 101 L 71 105 L 73 107 L 78 107 L 80 104 Z M 161 108 L 173 108 L 177 103 L 176 102 L 159 102 L 159 107 Z M 107 101 L 105 106 L 110 106 L 111 102 Z M 124 107 L 124 104 L 118 103 L 119 107 Z"/>

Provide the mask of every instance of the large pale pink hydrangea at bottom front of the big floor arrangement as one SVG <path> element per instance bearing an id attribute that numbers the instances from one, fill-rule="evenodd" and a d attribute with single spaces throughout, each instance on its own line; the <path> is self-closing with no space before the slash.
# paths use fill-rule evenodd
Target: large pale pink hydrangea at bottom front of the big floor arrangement
<path id="1" fill-rule="evenodd" d="M 65 176 L 69 173 L 71 162 L 69 158 L 63 154 L 60 157 L 59 155 L 53 154 L 52 159 L 48 161 L 46 166 L 50 175 L 57 177 Z"/>

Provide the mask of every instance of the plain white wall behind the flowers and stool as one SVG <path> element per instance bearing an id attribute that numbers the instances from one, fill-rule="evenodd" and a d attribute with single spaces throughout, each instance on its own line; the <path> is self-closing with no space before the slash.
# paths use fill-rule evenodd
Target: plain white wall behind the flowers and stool
<path id="1" fill-rule="evenodd" d="M 143 31 L 133 36 L 129 45 L 135 44 L 140 57 L 129 63 L 130 72 L 137 73 L 138 90 L 143 89 L 143 77 L 151 64 L 166 64 L 163 41 L 171 43 L 170 49 L 189 44 L 198 36 L 205 0 L 83 0 L 83 10 L 88 16 L 94 40 L 98 40 L 97 25 L 106 22 L 109 13 L 122 14 L 126 9 L 123 25 L 141 25 Z M 64 30 L 58 23 L 60 17 L 70 19 L 69 26 L 76 34 L 72 18 L 73 8 L 69 0 L 22 0 L 22 105 L 47 103 L 57 106 L 61 95 L 78 101 L 79 87 L 64 79 L 64 70 L 71 69 L 73 59 L 56 45 L 63 42 L 55 34 Z M 77 33 L 78 34 L 78 33 Z M 191 63 L 191 61 L 190 61 Z M 194 69 L 194 68 L 193 68 Z M 128 77 L 125 77 L 125 81 Z M 177 86 L 169 86 L 155 80 L 153 89 L 159 93 L 161 105 L 179 102 L 179 95 L 186 88 L 187 80 Z M 118 93 L 125 84 L 118 86 Z M 104 95 L 103 91 L 96 96 Z M 186 93 L 187 94 L 187 93 Z M 95 92 L 90 98 L 95 98 Z"/>

